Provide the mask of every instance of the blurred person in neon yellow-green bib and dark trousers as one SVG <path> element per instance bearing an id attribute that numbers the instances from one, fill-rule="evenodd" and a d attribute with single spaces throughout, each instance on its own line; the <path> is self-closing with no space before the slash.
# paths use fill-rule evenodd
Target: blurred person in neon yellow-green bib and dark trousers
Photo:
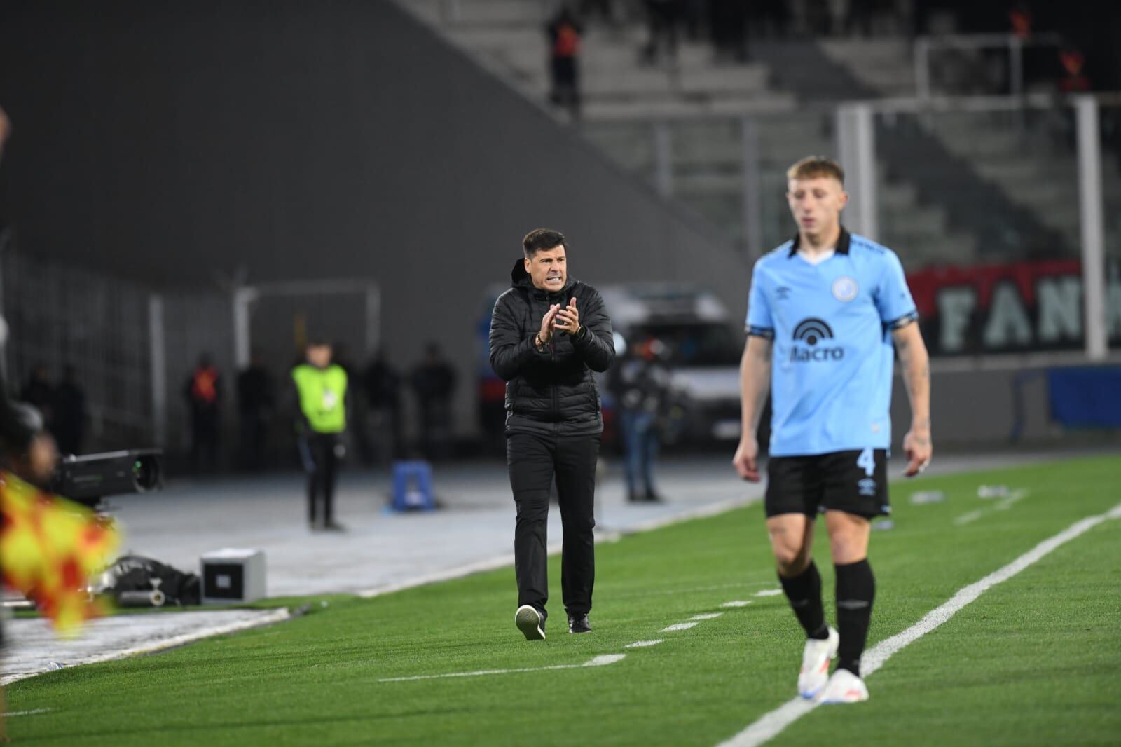
<path id="1" fill-rule="evenodd" d="M 307 360 L 291 369 L 296 386 L 296 427 L 299 452 L 307 471 L 307 520 L 313 531 L 341 532 L 335 523 L 334 494 L 339 461 L 346 454 L 342 436 L 346 431 L 348 377 L 342 366 L 331 362 L 326 342 L 307 345 Z M 318 518 L 322 498 L 323 519 Z"/>

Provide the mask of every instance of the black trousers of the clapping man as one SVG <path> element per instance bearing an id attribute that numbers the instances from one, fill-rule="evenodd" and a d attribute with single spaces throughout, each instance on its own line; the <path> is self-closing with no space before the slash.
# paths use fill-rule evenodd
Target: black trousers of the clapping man
<path id="1" fill-rule="evenodd" d="M 556 477 L 564 528 L 560 589 L 569 615 L 592 609 L 595 582 L 595 462 L 600 436 L 554 437 L 511 433 L 506 443 L 510 487 L 518 508 L 513 532 L 513 569 L 518 578 L 518 606 L 545 611 L 549 598 L 547 575 L 549 495 Z"/>

